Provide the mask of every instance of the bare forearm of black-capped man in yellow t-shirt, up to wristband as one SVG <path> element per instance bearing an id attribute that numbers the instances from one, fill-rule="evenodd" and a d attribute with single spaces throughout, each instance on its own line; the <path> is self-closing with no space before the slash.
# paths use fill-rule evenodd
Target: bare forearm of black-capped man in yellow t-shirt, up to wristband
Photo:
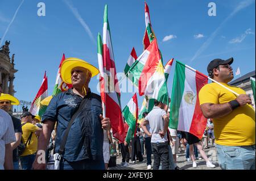
<path id="1" fill-rule="evenodd" d="M 225 104 L 202 104 L 201 110 L 206 118 L 219 118 L 232 112 L 229 103 Z"/>

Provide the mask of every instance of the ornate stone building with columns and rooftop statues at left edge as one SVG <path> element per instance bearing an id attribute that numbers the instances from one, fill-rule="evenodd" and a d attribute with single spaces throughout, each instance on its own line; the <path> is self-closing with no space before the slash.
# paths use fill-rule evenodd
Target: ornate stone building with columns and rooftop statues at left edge
<path id="1" fill-rule="evenodd" d="M 0 84 L 2 83 L 3 93 L 14 95 L 14 74 L 18 71 L 14 68 L 14 54 L 10 58 L 10 41 L 0 48 Z"/>

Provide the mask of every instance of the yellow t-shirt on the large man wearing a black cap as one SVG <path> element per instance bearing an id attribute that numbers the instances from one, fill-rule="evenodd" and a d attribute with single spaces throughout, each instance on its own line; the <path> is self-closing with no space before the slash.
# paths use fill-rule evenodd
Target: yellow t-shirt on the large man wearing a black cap
<path id="1" fill-rule="evenodd" d="M 246 94 L 239 87 L 222 85 L 237 92 Z M 236 99 L 232 92 L 217 83 L 209 83 L 199 92 L 200 105 L 204 103 L 224 104 Z M 216 144 L 225 146 L 248 146 L 255 144 L 255 110 L 246 104 L 238 107 L 226 116 L 213 119 Z"/>

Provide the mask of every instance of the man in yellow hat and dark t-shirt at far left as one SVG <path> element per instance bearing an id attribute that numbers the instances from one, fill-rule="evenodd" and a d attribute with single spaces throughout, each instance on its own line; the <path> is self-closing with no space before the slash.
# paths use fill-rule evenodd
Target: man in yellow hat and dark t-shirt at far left
<path id="1" fill-rule="evenodd" d="M 11 110 L 11 105 L 19 105 L 19 100 L 10 94 L 1 94 L 0 96 L 0 109 L 9 113 Z M 19 157 L 18 157 L 18 145 L 20 144 L 20 140 L 22 137 L 22 128 L 20 124 L 20 120 L 16 117 L 11 116 L 13 120 L 14 132 L 16 141 L 11 143 L 11 149 L 13 149 L 13 165 L 14 170 L 19 170 Z"/>

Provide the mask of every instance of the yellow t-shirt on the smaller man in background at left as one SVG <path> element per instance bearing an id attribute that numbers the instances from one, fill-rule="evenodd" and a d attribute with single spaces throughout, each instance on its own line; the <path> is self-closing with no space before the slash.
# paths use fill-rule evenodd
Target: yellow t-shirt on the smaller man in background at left
<path id="1" fill-rule="evenodd" d="M 23 123 L 22 123 L 23 124 Z M 35 154 L 36 150 L 38 150 L 38 138 L 36 137 L 35 131 L 39 128 L 34 124 L 26 123 L 22 126 L 22 139 L 24 140 L 24 144 L 26 144 L 30 133 L 32 132 L 32 137 L 30 140 L 30 144 L 27 143 L 26 149 L 24 150 L 21 156 L 26 156 L 30 154 Z"/>

